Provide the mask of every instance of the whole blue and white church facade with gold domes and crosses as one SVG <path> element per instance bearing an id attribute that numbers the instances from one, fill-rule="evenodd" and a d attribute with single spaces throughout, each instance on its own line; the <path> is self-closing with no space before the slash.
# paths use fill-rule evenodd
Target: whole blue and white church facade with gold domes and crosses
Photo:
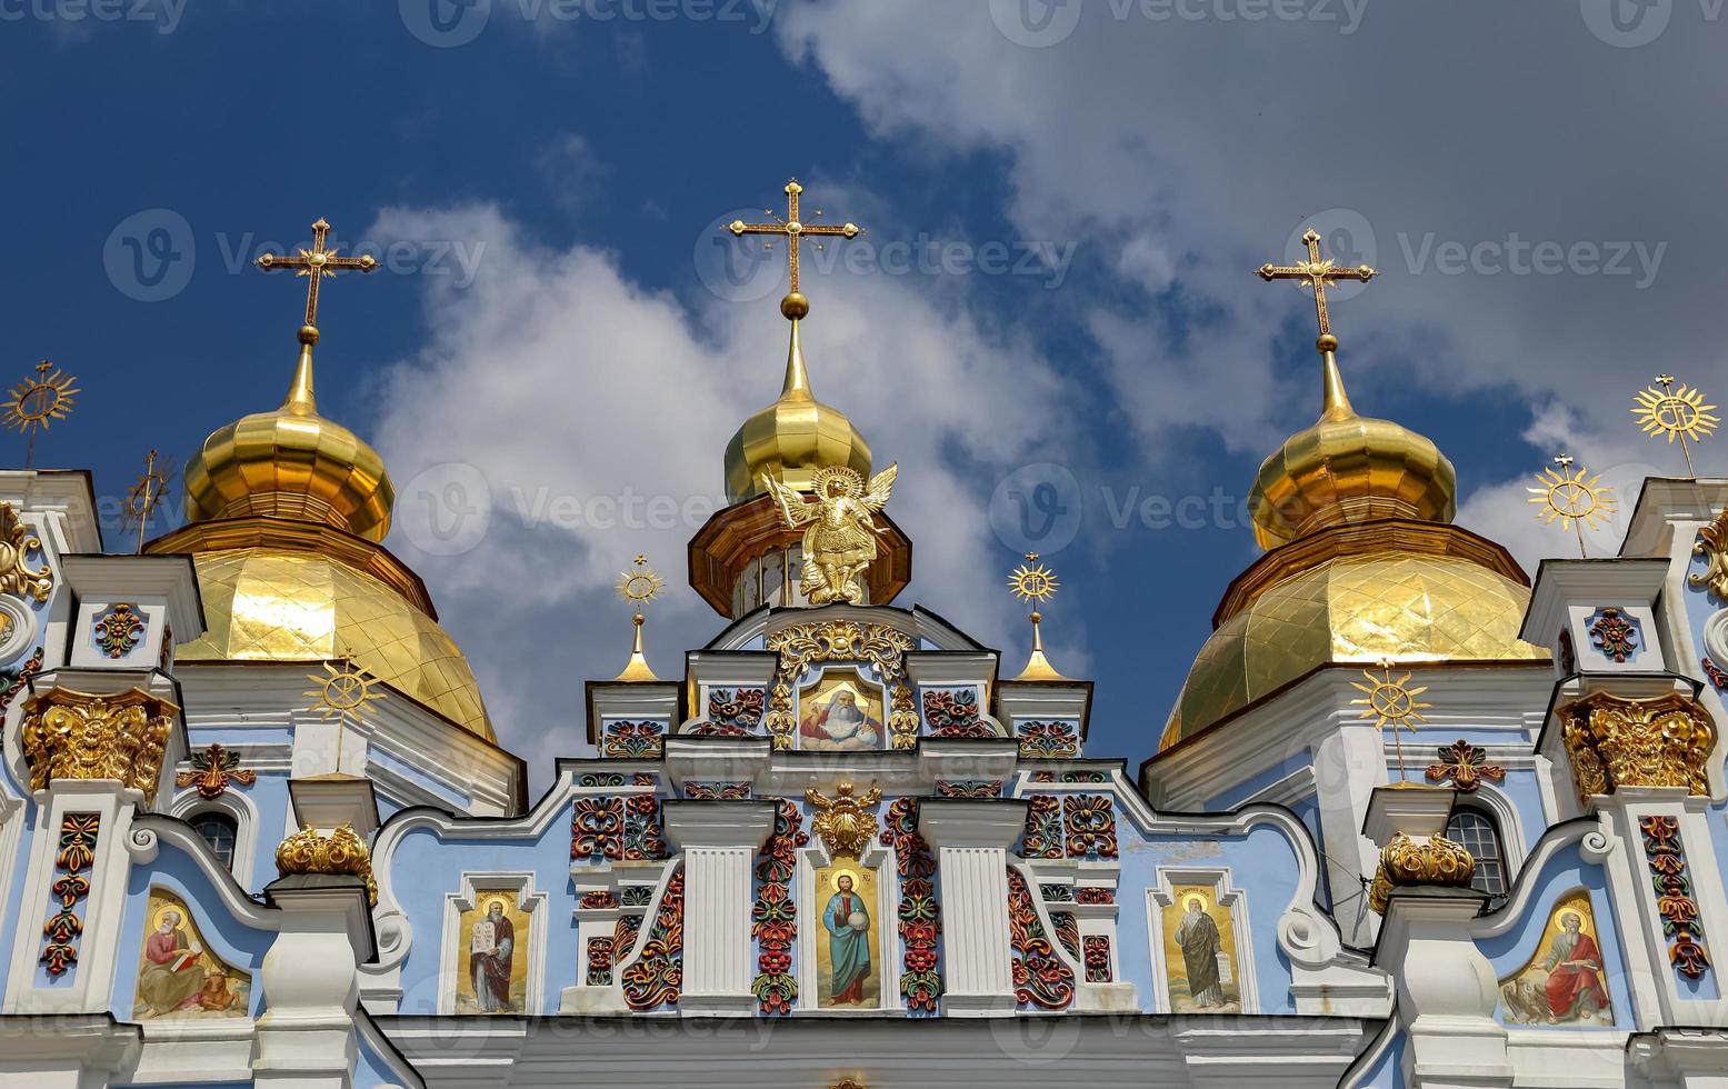
<path id="1" fill-rule="evenodd" d="M 733 230 L 797 254 L 788 195 Z M 0 472 L 0 1084 L 1728 1086 L 1728 479 L 1531 581 L 1356 413 L 1324 297 L 1372 270 L 1310 249 L 1261 275 L 1315 289 L 1322 413 L 1144 762 L 1087 745 L 1035 557 L 1023 669 L 900 602 L 793 258 L 689 541 L 717 634 L 589 681 L 539 799 L 318 413 L 316 289 L 366 266 L 276 259 L 289 394 L 185 527 L 104 555 L 86 474 Z"/>

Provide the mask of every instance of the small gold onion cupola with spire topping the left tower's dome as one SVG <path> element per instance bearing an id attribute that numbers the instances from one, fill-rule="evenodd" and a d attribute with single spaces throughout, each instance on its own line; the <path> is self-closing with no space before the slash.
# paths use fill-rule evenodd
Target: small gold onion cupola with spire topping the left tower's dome
<path id="1" fill-rule="evenodd" d="M 396 486 L 384 458 L 349 429 L 318 415 L 313 346 L 301 330 L 294 385 L 275 411 L 218 429 L 187 463 L 187 519 L 264 515 L 335 525 L 368 541 L 391 529 Z"/>

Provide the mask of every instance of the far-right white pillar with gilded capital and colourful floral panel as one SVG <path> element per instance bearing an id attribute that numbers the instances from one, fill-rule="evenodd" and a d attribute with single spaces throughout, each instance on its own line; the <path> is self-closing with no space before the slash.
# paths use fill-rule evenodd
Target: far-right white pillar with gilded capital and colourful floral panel
<path id="1" fill-rule="evenodd" d="M 1543 738 L 1564 745 L 1578 802 L 1598 812 L 1617 850 L 1609 873 L 1638 1027 L 1728 1023 L 1718 952 L 1728 949 L 1728 892 L 1711 847 L 1709 761 L 1718 731 L 1693 695 L 1662 678 L 1626 679 L 1562 705 Z M 1655 691 L 1650 695 L 1650 691 Z M 1621 695 L 1642 691 L 1645 695 Z"/>

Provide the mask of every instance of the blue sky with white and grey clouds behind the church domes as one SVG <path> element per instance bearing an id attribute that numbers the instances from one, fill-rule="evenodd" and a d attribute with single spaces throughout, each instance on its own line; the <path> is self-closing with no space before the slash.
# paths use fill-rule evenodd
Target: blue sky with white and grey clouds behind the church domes
<path id="1" fill-rule="evenodd" d="M 1251 275 L 1305 225 L 1386 271 L 1334 311 L 1358 410 L 1434 437 L 1462 520 L 1526 564 L 1567 544 L 1521 505 L 1557 446 L 1631 484 L 1680 463 L 1630 427 L 1635 389 L 1728 389 L 1728 26 L 1709 0 L 1609 2 L 0 0 L 10 366 L 83 380 L 36 460 L 112 503 L 145 449 L 183 462 L 280 398 L 302 292 L 249 268 L 259 247 L 316 216 L 394 245 L 327 289 L 320 406 L 416 510 L 468 479 L 449 465 L 484 481 L 460 551 L 413 512 L 389 544 L 503 740 L 574 754 L 636 551 L 674 584 L 662 674 L 721 626 L 684 589 L 693 525 L 593 500 L 719 496 L 785 322 L 767 271 L 715 278 L 715 223 L 797 175 L 871 232 L 852 264 L 809 261 L 807 347 L 902 465 L 900 603 L 1018 667 L 1006 505 L 1070 512 L 1040 541 L 1047 634 L 1099 681 L 1094 754 L 1139 761 L 1256 555 L 1255 468 L 1318 408 L 1312 308 Z M 1158 525 L 1184 498 L 1192 525 Z"/>

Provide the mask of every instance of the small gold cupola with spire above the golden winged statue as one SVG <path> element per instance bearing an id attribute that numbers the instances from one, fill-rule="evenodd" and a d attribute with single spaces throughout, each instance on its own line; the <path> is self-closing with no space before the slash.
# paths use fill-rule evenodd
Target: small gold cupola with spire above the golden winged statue
<path id="1" fill-rule="evenodd" d="M 809 313 L 809 304 L 804 296 L 790 294 L 781 301 L 781 313 L 791 318 L 786 382 L 779 399 L 745 420 L 726 444 L 726 498 L 731 503 L 762 494 L 757 481 L 762 474 L 804 491 L 812 487 L 810 474 L 824 465 L 845 465 L 869 477 L 869 443 L 843 411 L 810 394 L 810 373 L 798 344 L 798 318 Z"/>

